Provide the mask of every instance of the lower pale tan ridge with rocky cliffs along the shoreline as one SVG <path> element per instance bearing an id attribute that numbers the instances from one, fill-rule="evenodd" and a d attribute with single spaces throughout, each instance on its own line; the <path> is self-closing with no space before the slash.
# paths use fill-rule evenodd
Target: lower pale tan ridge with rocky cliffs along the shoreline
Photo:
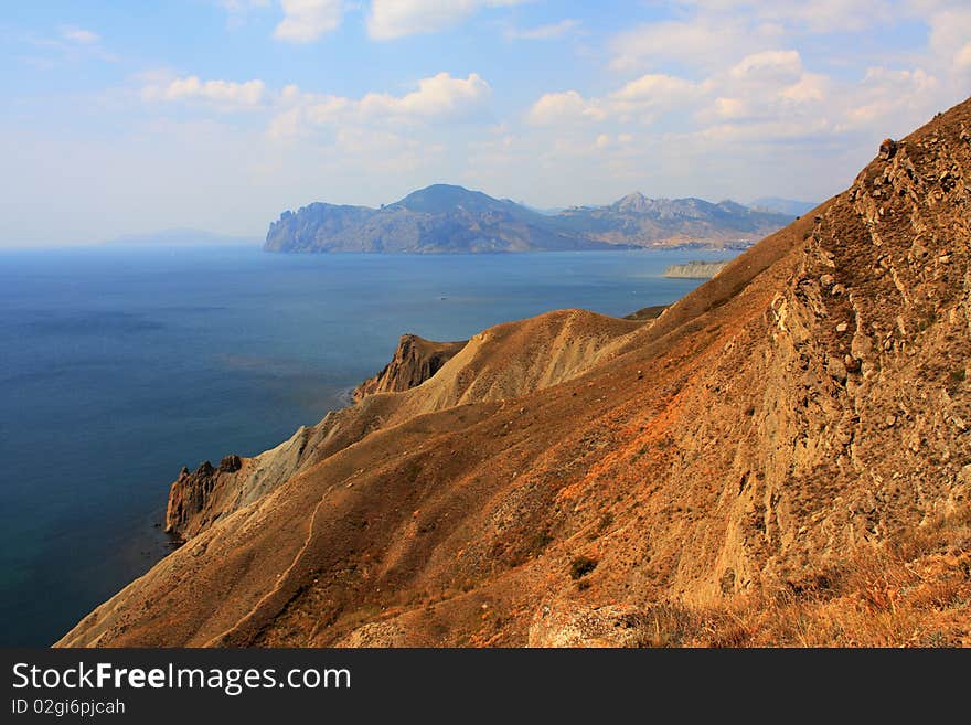
<path id="1" fill-rule="evenodd" d="M 193 472 L 183 469 L 169 493 L 166 529 L 180 540 L 191 539 L 376 428 L 567 380 L 609 354 L 609 343 L 636 327 L 585 310 L 562 310 L 497 326 L 468 342 L 403 335 L 392 362 L 355 391 L 358 405 L 328 413 L 316 426 L 301 426 L 289 440 L 254 458 L 231 455 L 218 467 L 205 461 Z M 441 367 L 447 370 L 437 375 Z M 393 392 L 404 394 L 386 394 Z"/>

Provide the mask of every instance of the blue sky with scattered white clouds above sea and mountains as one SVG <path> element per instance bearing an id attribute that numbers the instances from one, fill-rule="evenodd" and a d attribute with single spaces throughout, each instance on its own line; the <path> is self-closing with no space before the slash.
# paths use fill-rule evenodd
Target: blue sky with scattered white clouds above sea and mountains
<path id="1" fill-rule="evenodd" d="M 822 201 L 971 93 L 967 0 L 10 0 L 0 246 L 457 183 Z"/>

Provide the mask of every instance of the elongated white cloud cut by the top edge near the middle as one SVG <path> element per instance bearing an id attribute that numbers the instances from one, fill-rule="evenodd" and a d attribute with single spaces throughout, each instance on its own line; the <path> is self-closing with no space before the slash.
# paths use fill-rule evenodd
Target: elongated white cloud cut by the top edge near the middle
<path id="1" fill-rule="evenodd" d="M 374 40 L 394 40 L 433 33 L 483 8 L 516 6 L 529 0 L 372 0 L 367 33 Z"/>

